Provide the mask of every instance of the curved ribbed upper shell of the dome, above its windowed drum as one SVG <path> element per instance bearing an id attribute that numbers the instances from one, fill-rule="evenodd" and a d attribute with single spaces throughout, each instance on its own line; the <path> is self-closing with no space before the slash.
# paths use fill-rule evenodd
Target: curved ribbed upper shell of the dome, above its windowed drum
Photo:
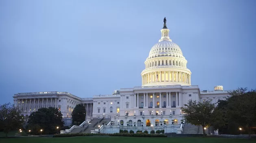
<path id="1" fill-rule="evenodd" d="M 170 40 L 163 40 L 156 43 L 151 48 L 148 58 L 158 57 L 158 55 L 184 58 L 180 47 Z"/>

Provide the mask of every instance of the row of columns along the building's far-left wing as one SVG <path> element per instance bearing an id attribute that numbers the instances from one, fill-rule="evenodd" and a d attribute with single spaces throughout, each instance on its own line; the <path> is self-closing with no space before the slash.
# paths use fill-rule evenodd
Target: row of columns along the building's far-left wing
<path id="1" fill-rule="evenodd" d="M 33 112 L 42 107 L 57 107 L 57 100 L 57 98 L 16 99 L 14 105 L 22 111 Z"/>

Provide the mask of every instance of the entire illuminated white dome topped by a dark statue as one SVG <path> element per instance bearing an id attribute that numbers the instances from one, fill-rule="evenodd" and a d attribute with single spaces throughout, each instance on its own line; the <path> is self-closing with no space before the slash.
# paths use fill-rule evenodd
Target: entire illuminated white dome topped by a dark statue
<path id="1" fill-rule="evenodd" d="M 142 86 L 191 85 L 191 71 L 180 47 L 169 38 L 169 29 L 161 29 L 161 39 L 150 50 L 141 72 Z"/>

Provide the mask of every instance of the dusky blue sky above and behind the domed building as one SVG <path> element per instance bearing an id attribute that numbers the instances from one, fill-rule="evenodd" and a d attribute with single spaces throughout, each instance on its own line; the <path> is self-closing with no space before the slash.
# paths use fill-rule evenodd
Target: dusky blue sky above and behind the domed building
<path id="1" fill-rule="evenodd" d="M 256 88 L 255 0 L 1 0 L 0 104 L 141 86 L 163 18 L 200 90 Z"/>

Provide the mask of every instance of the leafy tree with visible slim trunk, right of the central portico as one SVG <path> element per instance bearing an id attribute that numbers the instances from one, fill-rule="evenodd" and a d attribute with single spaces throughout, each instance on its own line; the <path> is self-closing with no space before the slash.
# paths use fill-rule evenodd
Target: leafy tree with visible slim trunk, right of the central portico
<path id="1" fill-rule="evenodd" d="M 205 136 L 204 127 L 210 126 L 214 104 L 211 103 L 211 100 L 204 102 L 190 100 L 189 103 L 184 104 L 184 106 L 185 107 L 181 107 L 182 111 L 185 113 L 184 119 L 193 125 L 202 125 Z"/>

